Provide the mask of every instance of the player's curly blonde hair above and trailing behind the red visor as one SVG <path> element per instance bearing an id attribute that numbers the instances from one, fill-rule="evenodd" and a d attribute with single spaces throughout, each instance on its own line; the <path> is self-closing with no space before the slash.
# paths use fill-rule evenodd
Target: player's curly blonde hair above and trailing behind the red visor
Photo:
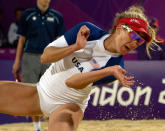
<path id="1" fill-rule="evenodd" d="M 154 29 L 152 29 L 152 27 L 149 24 L 147 16 L 144 14 L 144 8 L 141 6 L 131 6 L 131 7 L 129 7 L 128 10 L 126 10 L 122 13 L 117 13 L 116 17 L 114 19 L 114 22 L 113 22 L 113 27 L 110 30 L 110 33 L 115 32 L 116 22 L 121 18 L 140 18 L 147 23 L 147 31 L 148 31 L 149 35 L 151 36 L 151 41 L 146 43 L 146 52 L 147 52 L 148 57 L 151 58 L 149 49 L 152 49 L 152 45 L 158 46 L 155 43 L 158 41 L 156 40 L 156 32 L 154 31 Z"/>

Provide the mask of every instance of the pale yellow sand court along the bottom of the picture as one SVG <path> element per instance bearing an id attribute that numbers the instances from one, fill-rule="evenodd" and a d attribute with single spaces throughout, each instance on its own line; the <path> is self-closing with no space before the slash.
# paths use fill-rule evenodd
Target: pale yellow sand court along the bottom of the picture
<path id="1" fill-rule="evenodd" d="M 43 131 L 48 123 L 42 122 Z M 34 131 L 32 123 L 5 124 L 0 131 Z M 77 131 L 165 131 L 165 120 L 108 120 L 82 121 Z"/>

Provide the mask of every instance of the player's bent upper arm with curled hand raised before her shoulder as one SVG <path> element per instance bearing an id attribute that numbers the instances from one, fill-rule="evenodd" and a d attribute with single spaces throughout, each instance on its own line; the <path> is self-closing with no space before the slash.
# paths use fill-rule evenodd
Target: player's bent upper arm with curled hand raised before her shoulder
<path id="1" fill-rule="evenodd" d="M 77 34 L 76 43 L 67 46 L 67 47 L 54 47 L 49 46 L 45 48 L 42 56 L 41 56 L 41 63 L 51 63 L 56 62 L 65 56 L 72 54 L 73 52 L 80 50 L 85 47 L 87 39 L 89 37 L 90 30 L 87 26 L 82 26 Z"/>

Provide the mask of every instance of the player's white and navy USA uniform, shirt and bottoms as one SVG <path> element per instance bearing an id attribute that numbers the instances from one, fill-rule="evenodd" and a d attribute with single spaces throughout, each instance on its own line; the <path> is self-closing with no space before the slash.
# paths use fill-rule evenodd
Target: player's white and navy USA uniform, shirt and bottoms
<path id="1" fill-rule="evenodd" d="M 60 105 L 67 103 L 79 105 L 84 112 L 92 86 L 90 84 L 80 90 L 67 87 L 65 80 L 72 75 L 99 70 L 112 65 L 120 65 L 124 68 L 123 57 L 120 54 L 110 53 L 104 48 L 104 40 L 110 34 L 89 22 L 76 25 L 48 46 L 66 47 L 75 44 L 77 33 L 83 25 L 86 25 L 90 30 L 90 36 L 84 49 L 75 51 L 52 63 L 37 84 L 40 106 L 44 114 L 49 115 Z M 108 76 L 94 82 L 93 85 L 114 80 L 113 76 Z"/>

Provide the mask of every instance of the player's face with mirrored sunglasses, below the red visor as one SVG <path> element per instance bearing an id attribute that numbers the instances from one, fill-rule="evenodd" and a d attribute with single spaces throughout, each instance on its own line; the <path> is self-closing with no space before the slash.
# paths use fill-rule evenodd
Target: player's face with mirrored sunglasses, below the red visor
<path id="1" fill-rule="evenodd" d="M 135 31 L 130 31 L 123 27 L 116 41 L 116 50 L 121 55 L 125 55 L 142 45 L 144 42 L 144 39 Z"/>

